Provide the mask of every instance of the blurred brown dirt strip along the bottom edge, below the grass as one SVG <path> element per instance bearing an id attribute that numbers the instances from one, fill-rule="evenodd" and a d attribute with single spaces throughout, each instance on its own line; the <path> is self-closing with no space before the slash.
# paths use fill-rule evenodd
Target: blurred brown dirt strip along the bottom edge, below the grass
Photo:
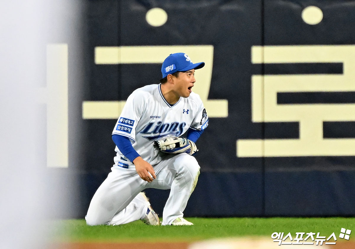
<path id="1" fill-rule="evenodd" d="M 134 248 L 144 248 L 144 249 L 187 249 L 189 248 L 189 243 L 187 242 L 156 242 L 156 243 L 151 243 L 151 242 L 141 242 L 141 243 L 61 243 L 61 244 L 55 244 L 51 249 L 134 249 Z M 305 245 L 299 245 L 298 247 L 294 247 L 291 245 L 287 245 L 288 248 L 309 248 L 308 246 Z M 316 245 L 314 245 L 316 246 Z M 335 245 L 318 245 L 316 247 L 323 248 L 323 249 L 355 249 L 355 242 L 338 242 Z M 196 244 L 193 246 L 193 248 L 196 248 Z M 202 247 L 201 247 L 202 248 Z M 206 248 L 206 247 L 204 247 Z M 207 248 L 225 248 L 224 245 L 221 245 L 221 247 L 208 247 Z M 207 249 L 206 248 L 206 249 Z M 256 248 L 256 247 L 248 247 L 245 244 L 244 245 L 237 245 L 233 244 L 231 247 L 228 248 L 239 248 L 239 249 L 246 249 L 246 248 Z M 257 248 L 262 248 L 262 247 L 257 247 Z M 271 248 L 269 246 L 266 246 L 264 248 Z M 284 248 L 282 246 L 278 246 L 276 243 L 272 248 Z M 312 247 L 313 248 L 313 247 Z"/>

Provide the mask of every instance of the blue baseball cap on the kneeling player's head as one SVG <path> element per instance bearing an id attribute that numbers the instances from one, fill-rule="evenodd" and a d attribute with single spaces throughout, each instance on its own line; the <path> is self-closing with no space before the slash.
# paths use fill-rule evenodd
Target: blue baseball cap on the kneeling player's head
<path id="1" fill-rule="evenodd" d="M 192 63 L 191 59 L 185 53 L 170 54 L 163 62 L 162 74 L 163 78 L 175 72 L 185 72 L 191 69 L 200 69 L 204 66 L 204 62 Z"/>

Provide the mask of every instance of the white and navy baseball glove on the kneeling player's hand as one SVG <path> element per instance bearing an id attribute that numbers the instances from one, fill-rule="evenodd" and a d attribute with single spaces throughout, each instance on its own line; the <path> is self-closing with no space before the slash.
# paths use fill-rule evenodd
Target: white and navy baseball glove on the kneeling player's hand
<path id="1" fill-rule="evenodd" d="M 194 155 L 198 149 L 194 142 L 187 138 L 169 137 L 154 141 L 154 144 L 162 152 L 169 154 L 187 153 Z"/>

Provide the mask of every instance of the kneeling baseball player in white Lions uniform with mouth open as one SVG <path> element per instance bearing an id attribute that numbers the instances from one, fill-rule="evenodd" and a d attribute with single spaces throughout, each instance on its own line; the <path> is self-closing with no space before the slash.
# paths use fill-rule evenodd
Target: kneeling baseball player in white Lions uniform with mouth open
<path id="1" fill-rule="evenodd" d="M 184 53 L 170 54 L 160 84 L 138 88 L 128 97 L 112 133 L 115 164 L 91 200 L 88 225 L 135 220 L 159 225 L 142 192 L 146 188 L 170 189 L 162 225 L 193 225 L 183 211 L 200 175 L 195 142 L 208 126 L 200 96 L 192 92 L 194 72 L 203 66 Z M 185 132 L 187 138 L 181 137 Z"/>

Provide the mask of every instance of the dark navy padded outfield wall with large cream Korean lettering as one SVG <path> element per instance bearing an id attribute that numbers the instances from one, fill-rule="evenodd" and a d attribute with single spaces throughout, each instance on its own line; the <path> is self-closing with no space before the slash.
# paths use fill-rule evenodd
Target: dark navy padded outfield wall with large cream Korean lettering
<path id="1" fill-rule="evenodd" d="M 355 215 L 355 1 L 83 3 L 80 46 L 51 41 L 68 51 L 69 153 L 49 168 L 73 179 L 53 183 L 62 192 L 78 189 L 66 215 L 86 214 L 113 165 L 125 100 L 158 83 L 173 52 L 206 62 L 193 89 L 209 126 L 185 216 Z M 162 214 L 169 191 L 146 192 Z"/>

